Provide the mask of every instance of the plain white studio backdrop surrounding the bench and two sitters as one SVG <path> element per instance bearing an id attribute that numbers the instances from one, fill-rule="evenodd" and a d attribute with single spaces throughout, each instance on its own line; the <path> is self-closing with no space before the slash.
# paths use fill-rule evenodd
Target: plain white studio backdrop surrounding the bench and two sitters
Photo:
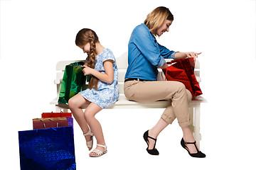
<path id="1" fill-rule="evenodd" d="M 75 46 L 82 28 L 95 30 L 115 57 L 127 52 L 135 26 L 157 6 L 174 14 L 169 33 L 158 42 L 170 50 L 202 52 L 201 149 L 194 159 L 179 145 L 175 123 L 159 135 L 159 157 L 146 153 L 144 131 L 163 109 L 106 110 L 97 114 L 109 152 L 88 157 L 75 122 L 77 169 L 253 169 L 255 153 L 255 1 L 48 1 L 0 0 L 1 164 L 19 169 L 18 131 L 31 130 L 32 119 L 55 111 L 55 64 L 83 60 Z M 250 141 L 250 143 L 247 143 Z M 182 168 L 181 168 L 182 167 Z"/>

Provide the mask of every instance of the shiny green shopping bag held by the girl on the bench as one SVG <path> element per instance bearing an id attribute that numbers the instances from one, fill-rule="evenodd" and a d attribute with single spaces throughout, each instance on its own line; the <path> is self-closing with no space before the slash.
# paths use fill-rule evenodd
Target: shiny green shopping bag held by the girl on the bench
<path id="1" fill-rule="evenodd" d="M 68 104 L 70 98 L 87 89 L 90 75 L 83 74 L 84 64 L 84 62 L 74 62 L 65 66 L 58 103 Z"/>

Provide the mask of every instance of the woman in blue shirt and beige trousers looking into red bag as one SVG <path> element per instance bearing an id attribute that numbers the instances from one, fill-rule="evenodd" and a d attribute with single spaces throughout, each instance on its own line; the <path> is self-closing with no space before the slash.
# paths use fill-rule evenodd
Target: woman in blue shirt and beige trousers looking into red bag
<path id="1" fill-rule="evenodd" d="M 191 157 L 206 157 L 198 150 L 189 125 L 188 102 L 192 95 L 178 81 L 156 81 L 157 68 L 168 67 L 164 58 L 183 59 L 197 57 L 196 52 L 174 52 L 156 42 L 155 36 L 169 32 L 174 16 L 169 8 L 158 7 L 151 11 L 141 25 L 134 28 L 128 45 L 128 68 L 124 81 L 124 94 L 131 101 L 170 100 L 156 125 L 144 133 L 149 154 L 158 155 L 156 137 L 175 118 L 183 131 L 181 146 Z M 152 90 L 154 89 L 154 90 Z"/>

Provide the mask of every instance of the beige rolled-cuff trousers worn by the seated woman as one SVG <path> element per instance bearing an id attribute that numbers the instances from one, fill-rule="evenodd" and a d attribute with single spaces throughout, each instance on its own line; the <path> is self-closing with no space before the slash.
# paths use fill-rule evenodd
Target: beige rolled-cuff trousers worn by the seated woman
<path id="1" fill-rule="evenodd" d="M 191 124 L 188 102 L 192 95 L 178 81 L 127 81 L 124 83 L 124 95 L 130 101 L 171 101 L 161 118 L 172 123 L 175 118 L 181 127 Z"/>

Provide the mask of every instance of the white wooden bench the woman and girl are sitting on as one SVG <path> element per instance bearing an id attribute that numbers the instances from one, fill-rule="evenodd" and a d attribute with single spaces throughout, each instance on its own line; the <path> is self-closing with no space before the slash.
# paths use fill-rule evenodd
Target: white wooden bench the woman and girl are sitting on
<path id="1" fill-rule="evenodd" d="M 154 102 L 136 102 L 136 101 L 129 101 L 124 96 L 124 75 L 126 73 L 127 67 L 128 67 L 128 54 L 125 52 L 120 57 L 116 58 L 117 60 L 117 68 L 118 68 L 118 84 L 119 84 L 119 98 L 114 105 L 108 107 L 109 108 L 166 108 L 170 105 L 170 101 L 154 101 Z M 166 60 L 166 62 L 169 62 L 170 60 Z M 56 112 L 68 112 L 68 105 L 60 104 L 58 103 L 58 96 L 60 94 L 60 86 L 63 79 L 63 74 L 65 71 L 65 66 L 72 63 L 72 62 L 80 62 L 80 60 L 73 60 L 73 61 L 60 61 L 56 65 L 56 79 L 54 81 L 54 84 L 57 85 L 57 96 L 56 98 L 50 102 L 50 104 L 55 105 Z M 198 60 L 196 60 L 196 67 L 195 67 L 195 75 L 196 79 L 198 80 L 198 83 L 201 81 L 200 78 L 200 64 Z M 159 69 L 158 74 L 158 81 L 163 81 L 163 78 L 161 77 L 161 69 Z M 195 140 L 198 144 L 198 147 L 200 147 L 200 140 L 201 140 L 201 134 L 200 134 L 200 105 L 201 103 L 206 103 L 206 99 L 202 96 L 197 96 L 196 98 L 193 98 L 191 103 L 189 104 L 189 111 L 191 120 L 193 123 L 191 123 L 191 130 L 193 131 L 193 135 L 195 137 Z M 82 106 L 82 108 L 86 108 L 87 105 Z"/>

